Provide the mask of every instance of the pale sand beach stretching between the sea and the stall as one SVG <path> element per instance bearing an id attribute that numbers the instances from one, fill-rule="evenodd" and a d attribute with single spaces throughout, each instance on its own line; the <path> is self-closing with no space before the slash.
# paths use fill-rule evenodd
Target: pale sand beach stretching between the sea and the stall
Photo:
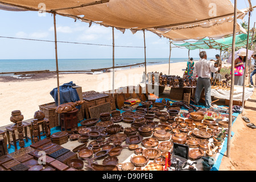
<path id="1" fill-rule="evenodd" d="M 170 75 L 183 76 L 182 69 L 187 66 L 186 62 L 171 63 Z M 147 66 L 147 72 L 162 72 L 168 75 L 168 64 Z M 144 67 L 115 71 L 115 89 L 122 86 L 138 85 L 142 81 Z M 82 87 L 82 92 L 95 90 L 96 92 L 112 90 L 113 72 L 98 75 L 86 73 L 60 74 L 60 85 L 73 81 L 74 84 Z M 39 110 L 39 105 L 54 102 L 49 94 L 57 87 L 55 73 L 41 73 L 32 78 L 12 78 L 0 77 L 0 126 L 12 124 L 10 121 L 11 111 L 20 110 L 24 120 L 34 117 L 35 111 Z"/>

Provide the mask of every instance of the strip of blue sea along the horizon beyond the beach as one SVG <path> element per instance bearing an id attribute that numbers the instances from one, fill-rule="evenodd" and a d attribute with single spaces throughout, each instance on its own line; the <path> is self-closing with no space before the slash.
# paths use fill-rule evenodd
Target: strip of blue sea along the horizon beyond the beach
<path id="1" fill-rule="evenodd" d="M 209 58 L 210 59 L 210 58 Z M 147 66 L 154 64 L 168 64 L 169 58 L 147 58 Z M 199 57 L 193 58 L 199 60 Z M 171 58 L 171 63 L 188 61 L 188 58 Z M 131 64 L 143 65 L 144 58 L 138 59 L 115 59 L 115 66 L 125 66 Z M 112 59 L 58 59 L 59 71 L 90 71 L 91 69 L 110 68 L 113 65 Z M 139 67 L 142 65 L 135 65 Z M 129 69 L 116 68 L 115 70 Z M 25 72 L 25 71 L 56 71 L 55 59 L 0 59 L 0 73 Z M 10 76 L 13 74 L 0 74 L 0 76 Z"/>

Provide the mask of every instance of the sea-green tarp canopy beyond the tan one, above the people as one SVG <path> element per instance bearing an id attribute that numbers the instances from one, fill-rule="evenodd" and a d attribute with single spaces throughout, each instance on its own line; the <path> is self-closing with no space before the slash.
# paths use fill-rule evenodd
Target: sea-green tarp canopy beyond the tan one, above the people
<path id="1" fill-rule="evenodd" d="M 195 43 L 175 44 L 177 47 L 185 47 L 189 50 L 195 49 L 227 49 L 232 47 L 233 36 L 222 39 L 202 39 Z M 251 36 L 249 36 L 249 44 L 251 43 Z M 236 35 L 236 47 L 245 46 L 247 44 L 247 34 Z"/>

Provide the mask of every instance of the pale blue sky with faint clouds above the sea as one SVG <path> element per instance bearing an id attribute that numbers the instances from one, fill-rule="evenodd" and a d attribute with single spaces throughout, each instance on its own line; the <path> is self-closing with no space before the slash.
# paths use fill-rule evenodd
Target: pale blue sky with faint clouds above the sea
<path id="1" fill-rule="evenodd" d="M 234 0 L 232 0 L 234 2 Z M 252 1 L 253 6 L 256 5 Z M 249 6 L 247 0 L 238 0 L 238 9 Z M 248 15 L 245 16 L 248 21 Z M 39 16 L 37 12 L 13 12 L 0 10 L 0 36 L 17 38 L 54 40 L 53 16 Z M 241 20 L 238 20 L 241 22 Z M 252 13 L 250 27 L 256 22 L 255 10 Z M 112 28 L 80 22 L 74 19 L 56 16 L 57 40 L 67 42 L 82 42 L 93 44 L 112 45 Z M 115 46 L 139 46 L 143 47 L 143 32 L 132 34 L 126 30 L 125 34 L 115 29 Z M 152 32 L 146 32 L 146 56 L 147 58 L 168 58 L 169 43 L 166 38 Z M 58 43 L 59 59 L 104 59 L 112 58 L 112 47 L 89 46 L 81 44 Z M 218 51 L 207 50 L 208 57 L 214 57 Z M 190 52 L 191 57 L 199 57 L 199 50 Z M 173 48 L 172 58 L 188 56 L 187 49 Z M 115 48 L 115 58 L 143 58 L 143 48 Z M 16 40 L 0 38 L 0 59 L 55 59 L 55 44 L 35 42 L 29 40 Z"/>

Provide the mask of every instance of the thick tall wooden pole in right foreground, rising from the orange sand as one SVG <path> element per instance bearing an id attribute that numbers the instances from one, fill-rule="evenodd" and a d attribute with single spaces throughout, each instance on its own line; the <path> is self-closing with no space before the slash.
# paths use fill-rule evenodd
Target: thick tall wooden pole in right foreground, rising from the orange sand
<path id="1" fill-rule="evenodd" d="M 228 144 L 226 156 L 230 158 L 231 132 L 232 132 L 232 113 L 233 113 L 233 96 L 234 96 L 234 53 L 236 48 L 236 30 L 237 30 L 237 0 L 234 0 L 234 24 L 233 24 L 233 42 L 232 42 L 232 61 L 231 61 L 231 88 L 229 97 L 229 126 L 228 126 Z"/>

